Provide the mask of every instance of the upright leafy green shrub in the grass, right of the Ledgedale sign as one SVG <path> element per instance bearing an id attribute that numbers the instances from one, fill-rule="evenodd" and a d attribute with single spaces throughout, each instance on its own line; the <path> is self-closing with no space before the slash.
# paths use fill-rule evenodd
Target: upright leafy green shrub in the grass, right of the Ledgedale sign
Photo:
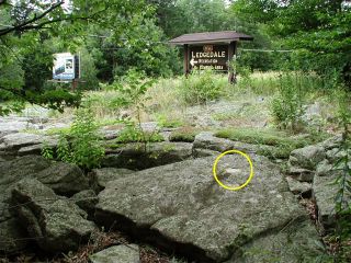
<path id="1" fill-rule="evenodd" d="M 295 73 L 296 78 L 298 75 Z M 275 124 L 284 129 L 294 132 L 302 128 L 303 93 L 298 80 L 292 75 L 280 77 L 281 85 L 278 94 L 271 102 L 271 115 Z"/>

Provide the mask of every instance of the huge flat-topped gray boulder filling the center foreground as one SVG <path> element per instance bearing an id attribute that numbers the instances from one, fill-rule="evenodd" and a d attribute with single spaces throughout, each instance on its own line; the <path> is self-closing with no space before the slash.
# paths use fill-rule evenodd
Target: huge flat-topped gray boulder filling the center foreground
<path id="1" fill-rule="evenodd" d="M 224 190 L 215 182 L 215 157 L 116 179 L 99 194 L 95 220 L 191 254 L 199 262 L 228 260 L 249 241 L 308 220 L 279 168 L 264 157 L 251 158 L 254 176 L 240 191 Z M 229 168 L 233 171 L 228 172 Z M 218 171 L 227 174 L 224 181 L 229 185 L 240 184 L 249 175 L 247 161 L 237 155 L 220 159 Z M 295 241 L 286 243 L 292 249 Z"/>

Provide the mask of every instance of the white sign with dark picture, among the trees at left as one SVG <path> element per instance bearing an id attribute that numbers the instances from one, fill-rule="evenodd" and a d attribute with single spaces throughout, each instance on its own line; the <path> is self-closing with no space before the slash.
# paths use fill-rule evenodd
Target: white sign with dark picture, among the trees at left
<path id="1" fill-rule="evenodd" d="M 73 80 L 75 76 L 75 56 L 70 53 L 58 53 L 54 55 L 53 79 Z"/>

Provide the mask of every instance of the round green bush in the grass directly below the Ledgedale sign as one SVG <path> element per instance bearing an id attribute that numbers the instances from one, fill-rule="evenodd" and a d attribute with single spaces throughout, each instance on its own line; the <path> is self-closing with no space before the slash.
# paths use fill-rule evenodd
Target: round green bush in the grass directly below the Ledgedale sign
<path id="1" fill-rule="evenodd" d="M 212 70 L 194 71 L 183 78 L 180 93 L 186 104 L 204 104 L 219 99 L 227 84 Z"/>

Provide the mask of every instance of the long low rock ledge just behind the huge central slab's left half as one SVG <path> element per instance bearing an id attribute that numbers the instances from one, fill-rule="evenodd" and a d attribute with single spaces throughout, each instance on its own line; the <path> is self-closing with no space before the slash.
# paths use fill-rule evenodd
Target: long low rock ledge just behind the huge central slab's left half
<path id="1" fill-rule="evenodd" d="M 102 167 L 141 170 L 192 158 L 192 144 L 151 142 L 128 144 L 115 150 L 107 150 Z"/>

